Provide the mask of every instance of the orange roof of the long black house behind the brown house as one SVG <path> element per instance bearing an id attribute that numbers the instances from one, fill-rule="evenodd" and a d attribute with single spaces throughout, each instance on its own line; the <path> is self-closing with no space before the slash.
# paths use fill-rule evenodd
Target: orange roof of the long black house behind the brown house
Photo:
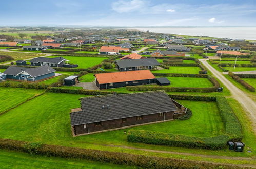
<path id="1" fill-rule="evenodd" d="M 154 79 L 155 76 L 150 70 L 137 70 L 127 72 L 98 73 L 94 74 L 99 84 L 116 83 L 124 81 L 136 81 Z"/>

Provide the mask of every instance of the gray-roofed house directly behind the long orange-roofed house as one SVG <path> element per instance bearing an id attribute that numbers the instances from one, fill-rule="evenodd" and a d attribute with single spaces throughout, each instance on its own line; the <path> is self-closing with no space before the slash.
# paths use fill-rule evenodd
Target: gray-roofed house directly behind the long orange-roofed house
<path id="1" fill-rule="evenodd" d="M 116 60 L 115 64 L 116 69 L 119 71 L 151 70 L 157 69 L 157 66 L 160 66 L 155 58 Z"/>

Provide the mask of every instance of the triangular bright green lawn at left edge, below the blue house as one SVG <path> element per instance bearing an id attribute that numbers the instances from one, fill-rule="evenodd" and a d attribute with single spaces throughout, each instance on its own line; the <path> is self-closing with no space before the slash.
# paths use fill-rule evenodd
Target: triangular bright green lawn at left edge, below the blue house
<path id="1" fill-rule="evenodd" d="M 43 90 L 0 87 L 0 112 L 42 92 Z"/>

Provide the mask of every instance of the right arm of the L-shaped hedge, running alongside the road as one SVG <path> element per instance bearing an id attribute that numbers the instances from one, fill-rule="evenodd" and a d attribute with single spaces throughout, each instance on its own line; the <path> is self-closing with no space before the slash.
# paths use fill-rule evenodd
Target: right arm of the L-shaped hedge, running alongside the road
<path id="1" fill-rule="evenodd" d="M 226 98 L 218 96 L 216 97 L 216 103 L 218 105 L 222 121 L 224 123 L 225 132 L 229 136 L 229 139 L 233 141 L 241 141 L 241 124 L 237 116 L 235 116 Z"/>

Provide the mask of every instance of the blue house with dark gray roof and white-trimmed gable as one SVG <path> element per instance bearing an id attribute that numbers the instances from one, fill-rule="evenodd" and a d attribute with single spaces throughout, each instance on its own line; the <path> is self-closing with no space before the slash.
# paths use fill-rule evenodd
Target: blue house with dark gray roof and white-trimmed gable
<path id="1" fill-rule="evenodd" d="M 6 79 L 37 81 L 55 76 L 56 70 L 49 66 L 37 68 L 25 68 L 18 66 L 10 66 L 4 71 Z"/>

